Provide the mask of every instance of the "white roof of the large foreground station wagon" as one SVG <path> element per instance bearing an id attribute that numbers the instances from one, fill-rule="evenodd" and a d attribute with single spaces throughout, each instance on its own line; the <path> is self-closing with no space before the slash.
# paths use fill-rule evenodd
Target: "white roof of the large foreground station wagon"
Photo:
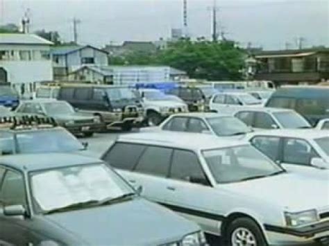
<path id="1" fill-rule="evenodd" d="M 195 151 L 242 146 L 247 144 L 246 141 L 220 139 L 219 137 L 208 134 L 170 131 L 124 134 L 121 135 L 117 141 L 150 144 L 171 148 L 182 148 Z"/>

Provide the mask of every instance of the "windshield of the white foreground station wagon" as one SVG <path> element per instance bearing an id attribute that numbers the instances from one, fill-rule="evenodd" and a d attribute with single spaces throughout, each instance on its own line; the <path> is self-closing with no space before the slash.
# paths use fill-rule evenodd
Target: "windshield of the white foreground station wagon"
<path id="1" fill-rule="evenodd" d="M 203 151 L 203 157 L 219 184 L 241 182 L 282 172 L 282 168 L 252 146 L 206 150 Z"/>

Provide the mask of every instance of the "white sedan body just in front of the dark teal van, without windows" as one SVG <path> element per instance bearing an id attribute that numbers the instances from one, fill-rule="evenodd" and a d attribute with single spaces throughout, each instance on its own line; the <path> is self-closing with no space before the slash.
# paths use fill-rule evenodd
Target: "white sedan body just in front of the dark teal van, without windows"
<path id="1" fill-rule="evenodd" d="M 282 108 L 276 108 L 276 107 L 240 107 L 239 109 L 235 110 L 232 113 L 235 117 L 239 118 L 239 120 L 244 121 L 244 123 L 246 123 L 246 125 L 253 128 L 253 130 L 264 130 L 264 129 L 269 130 L 269 129 L 285 129 L 285 128 L 294 129 L 295 128 L 293 126 L 285 125 L 282 122 L 282 119 L 280 120 L 280 118 L 278 118 L 278 116 L 277 116 L 278 114 L 289 114 L 289 115 L 293 116 L 294 118 L 296 118 L 296 121 L 301 123 L 301 127 L 311 128 L 310 123 L 308 123 L 308 121 L 306 121 L 306 119 L 303 116 L 301 116 L 301 114 L 298 114 L 293 109 L 282 109 Z M 246 122 L 246 120 L 244 120 L 241 116 L 242 113 L 254 114 L 253 123 Z M 272 123 L 270 125 L 268 125 L 267 128 L 262 128 L 262 127 L 258 126 L 256 124 L 257 119 L 255 119 L 255 117 L 260 117 L 259 115 L 269 116 L 269 118 L 271 118 Z M 264 123 L 264 122 L 265 122 L 264 120 L 260 119 L 260 123 Z"/>

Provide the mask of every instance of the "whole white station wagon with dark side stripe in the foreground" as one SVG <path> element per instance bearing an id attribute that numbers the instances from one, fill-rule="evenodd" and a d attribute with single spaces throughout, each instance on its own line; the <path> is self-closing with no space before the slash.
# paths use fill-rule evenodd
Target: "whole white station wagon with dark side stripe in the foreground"
<path id="1" fill-rule="evenodd" d="M 287 173 L 247 141 L 126 134 L 103 159 L 145 197 L 223 236 L 225 245 L 329 241 L 326 182 Z"/>

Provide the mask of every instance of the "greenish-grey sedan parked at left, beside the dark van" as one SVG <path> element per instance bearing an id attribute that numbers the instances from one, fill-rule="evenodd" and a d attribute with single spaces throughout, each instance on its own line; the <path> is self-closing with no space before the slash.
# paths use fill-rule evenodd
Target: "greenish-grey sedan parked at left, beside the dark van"
<path id="1" fill-rule="evenodd" d="M 52 117 L 69 132 L 85 137 L 91 137 L 102 128 L 98 117 L 78 113 L 69 103 L 61 100 L 26 100 L 16 109 L 16 115 L 22 114 Z"/>

